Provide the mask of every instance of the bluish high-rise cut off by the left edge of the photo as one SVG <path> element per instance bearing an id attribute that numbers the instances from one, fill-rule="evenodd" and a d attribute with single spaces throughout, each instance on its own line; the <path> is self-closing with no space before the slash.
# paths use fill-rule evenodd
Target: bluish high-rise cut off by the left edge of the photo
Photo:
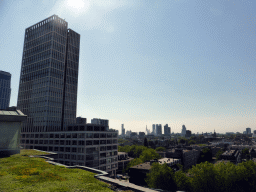
<path id="1" fill-rule="evenodd" d="M 0 109 L 9 107 L 11 98 L 11 74 L 0 71 Z"/>

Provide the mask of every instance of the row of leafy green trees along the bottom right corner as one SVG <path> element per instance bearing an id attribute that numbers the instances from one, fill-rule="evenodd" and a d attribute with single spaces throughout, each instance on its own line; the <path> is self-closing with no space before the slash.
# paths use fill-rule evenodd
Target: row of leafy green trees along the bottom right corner
<path id="1" fill-rule="evenodd" d="M 256 164 L 251 160 L 238 165 L 206 161 L 193 166 L 187 173 L 182 169 L 174 173 L 167 164 L 153 163 L 146 182 L 151 188 L 168 191 L 250 192 L 256 189 Z"/>

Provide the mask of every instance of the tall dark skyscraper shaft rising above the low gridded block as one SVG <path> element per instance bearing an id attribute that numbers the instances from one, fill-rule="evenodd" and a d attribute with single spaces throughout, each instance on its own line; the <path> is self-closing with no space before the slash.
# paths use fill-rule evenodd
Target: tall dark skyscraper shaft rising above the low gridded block
<path id="1" fill-rule="evenodd" d="M 25 29 L 17 108 L 22 132 L 65 130 L 76 122 L 80 35 L 57 15 Z"/>

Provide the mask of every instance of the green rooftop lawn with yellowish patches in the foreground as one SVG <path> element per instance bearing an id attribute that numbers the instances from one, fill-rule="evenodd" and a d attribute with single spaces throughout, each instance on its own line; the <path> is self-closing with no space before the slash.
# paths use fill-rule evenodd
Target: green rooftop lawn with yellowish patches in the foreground
<path id="1" fill-rule="evenodd" d="M 0 159 L 0 191 L 112 191 L 94 173 L 51 165 L 44 152 L 21 150 L 20 154 Z"/>

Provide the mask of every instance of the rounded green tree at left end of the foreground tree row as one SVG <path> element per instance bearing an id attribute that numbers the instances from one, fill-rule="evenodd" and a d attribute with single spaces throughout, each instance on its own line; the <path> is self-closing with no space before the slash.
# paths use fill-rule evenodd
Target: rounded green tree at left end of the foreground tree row
<path id="1" fill-rule="evenodd" d="M 173 170 L 166 163 L 163 165 L 153 163 L 145 181 L 150 188 L 177 190 Z"/>

